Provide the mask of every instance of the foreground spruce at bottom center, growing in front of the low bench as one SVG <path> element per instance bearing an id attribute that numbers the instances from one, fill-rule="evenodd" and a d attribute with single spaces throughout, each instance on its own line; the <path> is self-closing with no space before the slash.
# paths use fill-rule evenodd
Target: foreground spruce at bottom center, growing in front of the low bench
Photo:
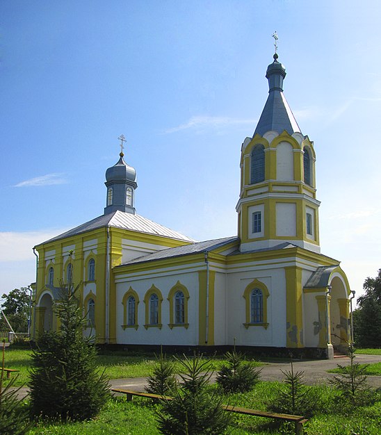
<path id="1" fill-rule="evenodd" d="M 163 401 L 156 414 L 161 434 L 168 435 L 220 435 L 229 424 L 229 413 L 221 407 L 222 397 L 209 388 L 210 361 L 193 355 L 180 361 L 185 374 L 180 375 L 181 386 L 173 400 Z"/>

